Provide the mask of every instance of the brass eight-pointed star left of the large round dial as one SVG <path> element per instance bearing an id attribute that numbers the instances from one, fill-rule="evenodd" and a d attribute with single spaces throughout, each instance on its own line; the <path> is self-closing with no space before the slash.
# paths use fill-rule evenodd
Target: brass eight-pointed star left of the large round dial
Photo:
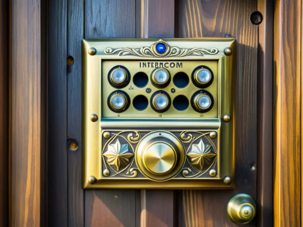
<path id="1" fill-rule="evenodd" d="M 116 143 L 109 144 L 107 151 L 103 154 L 107 157 L 107 163 L 109 165 L 115 165 L 119 171 L 120 165 L 126 166 L 129 163 L 129 158 L 134 154 L 128 152 L 128 144 L 120 144 L 117 140 Z"/>

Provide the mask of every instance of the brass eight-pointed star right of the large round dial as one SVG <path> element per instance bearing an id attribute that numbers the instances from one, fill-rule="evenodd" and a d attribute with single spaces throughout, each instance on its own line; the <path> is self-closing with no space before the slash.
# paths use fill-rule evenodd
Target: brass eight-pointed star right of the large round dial
<path id="1" fill-rule="evenodd" d="M 205 164 L 211 162 L 211 158 L 215 157 L 217 154 L 212 152 L 211 146 L 203 143 L 202 139 L 198 144 L 193 144 L 191 146 L 191 151 L 188 152 L 187 156 L 191 158 L 191 164 L 200 165 L 203 169 Z"/>

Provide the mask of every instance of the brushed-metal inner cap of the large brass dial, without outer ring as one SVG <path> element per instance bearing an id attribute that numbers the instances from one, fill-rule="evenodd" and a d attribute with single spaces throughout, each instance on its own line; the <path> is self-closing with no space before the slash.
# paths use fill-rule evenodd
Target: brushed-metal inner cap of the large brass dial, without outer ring
<path id="1" fill-rule="evenodd" d="M 152 173 L 165 174 L 176 165 L 176 151 L 168 143 L 152 143 L 144 154 L 145 167 Z"/>

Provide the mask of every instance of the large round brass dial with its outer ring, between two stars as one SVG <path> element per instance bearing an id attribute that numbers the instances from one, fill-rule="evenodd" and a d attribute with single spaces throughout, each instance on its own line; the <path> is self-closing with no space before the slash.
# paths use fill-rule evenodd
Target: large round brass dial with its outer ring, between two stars
<path id="1" fill-rule="evenodd" d="M 142 137 L 138 143 L 135 161 L 144 176 L 154 181 L 165 181 L 181 171 L 185 152 L 174 134 L 153 131 Z"/>

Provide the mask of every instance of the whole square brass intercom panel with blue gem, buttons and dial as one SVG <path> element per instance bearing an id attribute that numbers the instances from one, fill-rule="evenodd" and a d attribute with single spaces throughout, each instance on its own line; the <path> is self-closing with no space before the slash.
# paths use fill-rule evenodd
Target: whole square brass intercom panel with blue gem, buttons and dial
<path id="1" fill-rule="evenodd" d="M 83 40 L 84 188 L 234 188 L 236 41 Z"/>

